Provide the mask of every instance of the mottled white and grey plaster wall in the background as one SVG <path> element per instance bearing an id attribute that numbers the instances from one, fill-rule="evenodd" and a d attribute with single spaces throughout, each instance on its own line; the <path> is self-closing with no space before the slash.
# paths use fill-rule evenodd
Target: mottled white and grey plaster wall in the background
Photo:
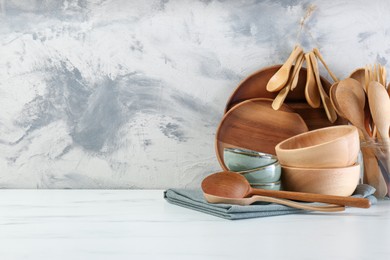
<path id="1" fill-rule="evenodd" d="M 0 0 L 0 187 L 196 187 L 251 72 L 387 65 L 390 1 Z"/>

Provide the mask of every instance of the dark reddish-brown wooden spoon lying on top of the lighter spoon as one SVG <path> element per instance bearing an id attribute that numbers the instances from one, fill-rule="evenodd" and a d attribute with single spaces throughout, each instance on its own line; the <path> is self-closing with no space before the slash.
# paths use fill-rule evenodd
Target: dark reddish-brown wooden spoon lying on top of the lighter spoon
<path id="1" fill-rule="evenodd" d="M 209 175 L 202 182 L 202 190 L 206 194 L 231 199 L 240 199 L 250 197 L 252 195 L 260 195 L 280 199 L 322 202 L 358 208 L 370 207 L 370 201 L 363 198 L 254 189 L 250 186 L 249 182 L 245 179 L 244 176 L 234 172 L 219 172 Z"/>

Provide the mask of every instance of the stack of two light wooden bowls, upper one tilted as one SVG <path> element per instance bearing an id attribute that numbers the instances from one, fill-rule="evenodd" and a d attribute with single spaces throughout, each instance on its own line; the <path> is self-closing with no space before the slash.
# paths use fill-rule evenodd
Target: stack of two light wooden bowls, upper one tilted
<path id="1" fill-rule="evenodd" d="M 350 196 L 360 178 L 358 130 L 341 125 L 313 130 L 280 142 L 283 189 Z"/>

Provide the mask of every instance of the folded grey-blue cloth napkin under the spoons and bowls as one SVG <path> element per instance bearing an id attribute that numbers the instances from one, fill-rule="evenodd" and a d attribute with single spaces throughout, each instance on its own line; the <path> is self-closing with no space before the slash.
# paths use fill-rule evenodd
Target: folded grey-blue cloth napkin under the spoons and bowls
<path id="1" fill-rule="evenodd" d="M 377 200 L 373 196 L 374 192 L 375 188 L 367 184 L 359 184 L 352 197 L 368 198 L 371 201 L 371 204 L 375 204 Z M 201 189 L 168 189 L 164 191 L 164 198 L 172 204 L 230 220 L 269 217 L 305 212 L 301 209 L 295 209 L 274 203 L 266 204 L 262 202 L 257 202 L 249 206 L 212 204 L 206 201 Z M 321 203 L 308 204 L 323 205 Z"/>

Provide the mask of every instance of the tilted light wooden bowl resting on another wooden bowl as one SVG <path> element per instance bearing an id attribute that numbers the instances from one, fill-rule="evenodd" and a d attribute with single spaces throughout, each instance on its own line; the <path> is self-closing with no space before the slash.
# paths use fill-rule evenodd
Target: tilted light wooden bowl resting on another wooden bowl
<path id="1" fill-rule="evenodd" d="M 353 165 L 360 150 L 357 128 L 340 125 L 293 136 L 276 145 L 282 166 L 331 168 Z"/>

